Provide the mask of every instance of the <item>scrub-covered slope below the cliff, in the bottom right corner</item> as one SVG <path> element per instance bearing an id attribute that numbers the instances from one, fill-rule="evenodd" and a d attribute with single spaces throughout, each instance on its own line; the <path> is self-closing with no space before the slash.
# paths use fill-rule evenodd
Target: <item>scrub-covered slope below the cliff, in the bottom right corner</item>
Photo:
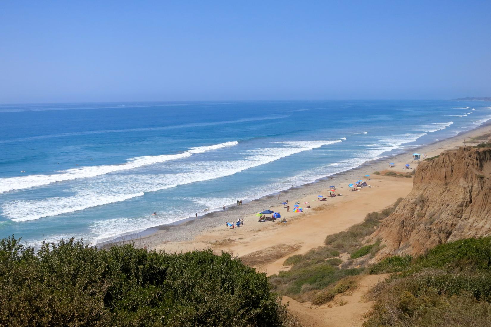
<path id="1" fill-rule="evenodd" d="M 491 237 L 438 245 L 426 254 L 392 256 L 370 274 L 396 273 L 377 284 L 365 327 L 489 326 Z"/>

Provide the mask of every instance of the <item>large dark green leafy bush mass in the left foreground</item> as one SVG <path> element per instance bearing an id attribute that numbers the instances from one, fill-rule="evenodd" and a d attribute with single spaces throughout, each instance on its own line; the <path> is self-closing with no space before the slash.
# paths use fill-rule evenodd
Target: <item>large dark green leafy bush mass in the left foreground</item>
<path id="1" fill-rule="evenodd" d="M 107 250 L 74 239 L 35 251 L 0 240 L 0 326 L 284 326 L 265 274 L 228 253 Z"/>

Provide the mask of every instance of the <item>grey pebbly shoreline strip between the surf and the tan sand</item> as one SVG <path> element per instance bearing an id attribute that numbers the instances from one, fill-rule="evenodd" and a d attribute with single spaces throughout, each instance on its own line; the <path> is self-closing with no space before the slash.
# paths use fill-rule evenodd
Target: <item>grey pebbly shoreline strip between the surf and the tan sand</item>
<path id="1" fill-rule="evenodd" d="M 197 218 L 188 217 L 172 223 L 148 227 L 143 231 L 129 233 L 104 242 L 99 242 L 94 246 L 104 247 L 112 244 L 126 243 L 128 241 L 135 242 L 136 240 L 139 240 L 140 244 L 143 243 L 144 247 L 156 248 L 162 243 L 191 241 L 200 233 L 221 226 L 225 221 L 245 219 L 246 217 L 250 217 L 257 212 L 277 206 L 279 202 L 277 199 L 278 195 L 280 195 L 280 201 L 285 201 L 288 199 L 289 202 L 295 202 L 295 199 L 311 196 L 313 194 L 312 192 L 314 191 L 313 187 L 318 189 L 317 192 L 319 194 L 321 194 L 322 191 L 325 191 L 328 185 L 335 185 L 336 187 L 344 185 L 344 190 L 347 190 L 348 182 L 354 181 L 365 174 L 371 175 L 374 171 L 393 170 L 401 173 L 404 164 L 410 163 L 412 160 L 412 155 L 409 155 L 410 152 L 419 151 L 421 153 L 425 153 L 427 157 L 432 157 L 444 150 L 452 149 L 457 146 L 463 146 L 464 138 L 466 139 L 466 143 L 471 144 L 472 141 L 470 139 L 472 137 L 486 134 L 490 131 L 490 126 L 491 120 L 488 120 L 481 126 L 468 131 L 460 132 L 455 136 L 443 140 L 436 140 L 435 142 L 427 145 L 408 148 L 405 149 L 403 153 L 370 160 L 355 168 L 333 175 L 320 177 L 313 182 L 270 193 L 269 198 L 267 195 L 265 195 L 258 199 L 244 202 L 242 205 L 237 205 L 234 203 L 226 207 L 225 211 L 218 209 L 216 211 L 211 211 L 200 215 Z M 396 163 L 396 167 L 389 168 L 389 160 L 390 162 Z M 413 164 L 413 166 L 410 168 L 411 171 L 416 167 L 416 165 L 417 163 Z M 346 193 L 346 191 L 344 192 Z"/>

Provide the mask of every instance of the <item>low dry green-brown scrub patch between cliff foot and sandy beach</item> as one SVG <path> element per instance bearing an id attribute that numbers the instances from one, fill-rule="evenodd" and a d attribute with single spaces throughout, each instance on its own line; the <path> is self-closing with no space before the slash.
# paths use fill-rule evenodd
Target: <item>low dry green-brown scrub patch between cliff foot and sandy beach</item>
<path id="1" fill-rule="evenodd" d="M 284 265 L 291 266 L 290 269 L 270 277 L 273 290 L 299 302 L 323 304 L 342 293 L 341 290 L 346 288 L 343 286 L 345 283 L 350 284 L 349 288 L 355 287 L 355 279 L 352 277 L 362 274 L 365 268 L 359 265 L 363 262 L 357 262 L 356 265 L 359 266 L 352 268 L 353 258 L 369 259 L 382 249 L 380 241 L 364 245 L 363 240 L 374 232 L 382 219 L 394 212 L 400 201 L 402 198 L 381 212 L 368 213 L 362 223 L 351 226 L 346 231 L 328 235 L 325 246 L 287 258 Z M 349 255 L 346 258 L 342 253 Z M 336 286 L 338 282 L 340 284 Z"/>

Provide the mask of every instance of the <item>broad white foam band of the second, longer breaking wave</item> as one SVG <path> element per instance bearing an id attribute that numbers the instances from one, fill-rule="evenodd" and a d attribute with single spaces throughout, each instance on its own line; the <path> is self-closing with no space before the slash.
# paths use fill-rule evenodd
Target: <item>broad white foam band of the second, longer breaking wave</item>
<path id="1" fill-rule="evenodd" d="M 339 142 L 342 141 L 275 142 L 284 145 L 277 148 L 246 150 L 244 152 L 246 156 L 240 160 L 179 163 L 179 168 L 182 172 L 177 174 L 110 176 L 111 182 L 108 184 L 112 185 L 110 187 L 105 184 L 104 180 L 99 180 L 102 185 L 91 185 L 91 190 L 97 193 L 86 194 L 85 191 L 81 190 L 77 195 L 65 198 L 11 201 L 3 205 L 2 211 L 6 218 L 14 221 L 35 220 L 70 213 L 96 205 L 128 200 L 142 196 L 144 192 L 155 192 L 178 185 L 234 175 L 246 169 L 264 165 L 295 153 Z M 119 187 L 119 189 L 116 189 L 114 185 L 117 185 L 116 187 Z M 107 194 L 112 195 L 108 197 Z"/>

